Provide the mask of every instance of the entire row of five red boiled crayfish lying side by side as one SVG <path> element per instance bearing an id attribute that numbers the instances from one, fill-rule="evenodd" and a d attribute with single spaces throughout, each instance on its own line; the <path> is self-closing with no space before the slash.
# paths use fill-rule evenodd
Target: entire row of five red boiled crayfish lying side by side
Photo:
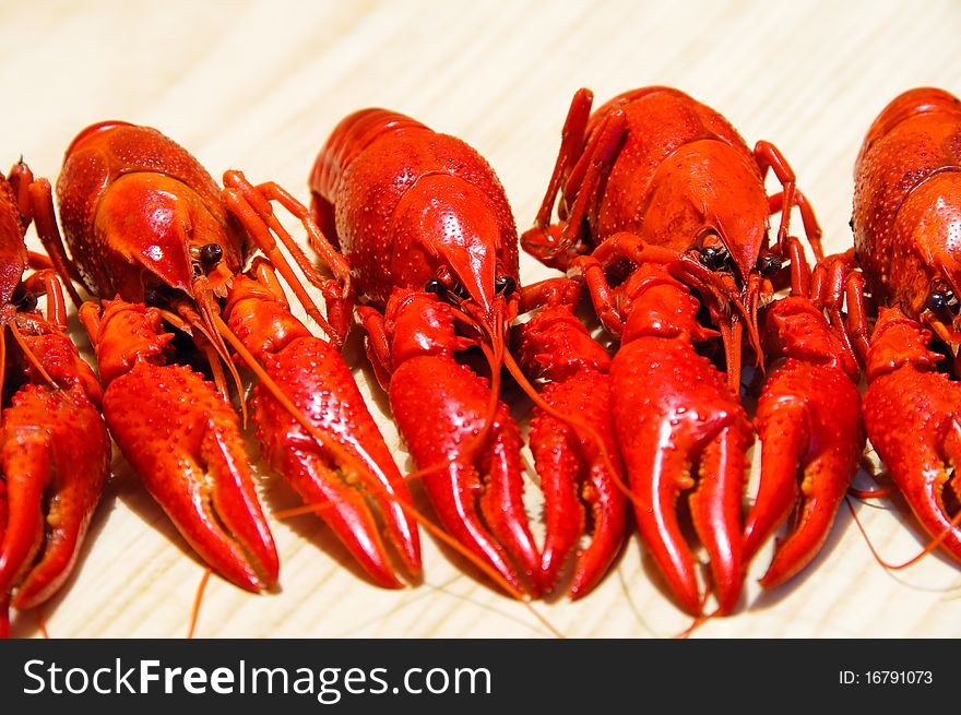
<path id="1" fill-rule="evenodd" d="M 271 470 L 384 587 L 418 579 L 424 526 L 515 597 L 562 579 L 580 597 L 617 556 L 632 505 L 677 603 L 701 615 L 713 595 L 727 613 L 788 521 L 762 585 L 817 556 L 866 437 L 961 560 L 959 102 L 915 90 L 885 109 L 858 158 L 855 248 L 830 257 L 773 144 L 749 148 L 666 87 L 591 109 L 591 93 L 577 93 L 520 238 L 566 275 L 533 285 L 520 284 L 518 233 L 487 163 L 383 109 L 336 127 L 309 210 L 239 171 L 221 188 L 170 139 L 124 122 L 90 127 L 67 150 L 59 222 L 49 182 L 17 164 L 0 181 L 0 632 L 8 604 L 31 608 L 68 577 L 108 478 L 108 432 L 212 570 L 273 588 L 248 410 Z M 795 210 L 814 267 L 791 231 Z M 46 254 L 25 247 L 31 223 Z M 294 315 L 284 285 L 325 337 Z M 578 318 L 582 288 L 613 357 Z M 67 336 L 64 290 L 99 379 Z M 413 474 L 341 357 L 355 325 Z M 539 546 L 506 380 L 534 405 Z M 741 401 L 759 385 L 749 417 Z M 745 509 L 756 437 L 761 476 Z M 439 526 L 415 509 L 411 482 Z"/>

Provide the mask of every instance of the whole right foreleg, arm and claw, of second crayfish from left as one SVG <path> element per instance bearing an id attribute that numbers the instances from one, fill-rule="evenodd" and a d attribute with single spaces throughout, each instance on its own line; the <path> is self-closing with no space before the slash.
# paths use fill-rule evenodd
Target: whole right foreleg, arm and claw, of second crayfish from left
<path id="1" fill-rule="evenodd" d="M 251 404 L 263 455 L 305 501 L 294 513 L 316 511 L 373 581 L 400 588 L 376 508 L 394 552 L 418 576 L 410 492 L 337 348 L 290 313 L 264 263 L 234 279 L 225 315 L 259 378 Z"/>

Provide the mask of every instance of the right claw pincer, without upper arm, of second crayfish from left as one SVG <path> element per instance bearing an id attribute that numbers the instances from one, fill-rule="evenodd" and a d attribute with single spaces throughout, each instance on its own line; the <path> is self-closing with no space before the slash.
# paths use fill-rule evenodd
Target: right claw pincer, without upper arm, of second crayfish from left
<path id="1" fill-rule="evenodd" d="M 253 414 L 268 461 L 306 504 L 317 507 L 378 584 L 402 587 L 369 502 L 394 552 L 416 577 L 420 543 L 417 524 L 407 513 L 413 509 L 411 496 L 349 368 L 335 347 L 313 336 L 298 337 L 265 357 L 264 367 L 302 418 L 327 436 L 327 445 L 319 443 L 263 383 L 258 384 Z"/>

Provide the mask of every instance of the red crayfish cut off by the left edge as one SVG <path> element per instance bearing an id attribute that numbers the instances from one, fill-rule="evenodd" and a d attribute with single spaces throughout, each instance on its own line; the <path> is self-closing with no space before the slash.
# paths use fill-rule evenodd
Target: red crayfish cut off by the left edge
<path id="1" fill-rule="evenodd" d="M 103 393 L 67 336 L 56 273 L 24 277 L 47 263 L 24 243 L 33 177 L 21 163 L 11 179 L 0 176 L 0 636 L 8 604 L 33 608 L 69 577 L 110 464 Z"/>

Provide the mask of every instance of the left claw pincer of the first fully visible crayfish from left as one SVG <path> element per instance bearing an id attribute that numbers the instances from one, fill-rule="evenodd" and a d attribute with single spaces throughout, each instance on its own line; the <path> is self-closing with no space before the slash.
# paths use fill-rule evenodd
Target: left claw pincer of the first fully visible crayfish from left
<path id="1" fill-rule="evenodd" d="M 186 366 L 139 362 L 107 388 L 104 416 L 191 547 L 235 584 L 271 588 L 280 571 L 276 549 L 237 414 L 213 385 Z"/>

